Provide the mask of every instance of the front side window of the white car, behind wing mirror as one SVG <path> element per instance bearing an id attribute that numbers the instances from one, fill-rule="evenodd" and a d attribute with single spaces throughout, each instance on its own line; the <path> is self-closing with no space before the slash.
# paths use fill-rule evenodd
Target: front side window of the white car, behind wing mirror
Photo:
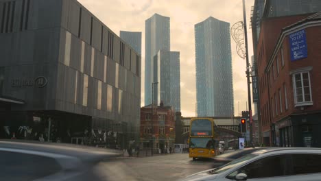
<path id="1" fill-rule="evenodd" d="M 269 156 L 251 162 L 231 173 L 227 178 L 234 178 L 238 173 L 246 173 L 248 179 L 268 178 L 287 175 L 287 156 Z"/>

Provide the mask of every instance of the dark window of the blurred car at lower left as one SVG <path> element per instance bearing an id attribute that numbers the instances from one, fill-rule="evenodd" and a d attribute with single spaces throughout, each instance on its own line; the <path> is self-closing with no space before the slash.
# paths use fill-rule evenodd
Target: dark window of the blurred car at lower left
<path id="1" fill-rule="evenodd" d="M 60 171 L 53 158 L 16 152 L 0 152 L 0 180 L 36 180 Z"/>

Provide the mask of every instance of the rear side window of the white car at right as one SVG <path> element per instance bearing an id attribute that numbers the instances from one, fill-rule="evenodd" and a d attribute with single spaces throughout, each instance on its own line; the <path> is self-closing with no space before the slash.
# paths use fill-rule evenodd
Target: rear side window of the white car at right
<path id="1" fill-rule="evenodd" d="M 321 173 L 321 155 L 292 155 L 293 174 Z"/>

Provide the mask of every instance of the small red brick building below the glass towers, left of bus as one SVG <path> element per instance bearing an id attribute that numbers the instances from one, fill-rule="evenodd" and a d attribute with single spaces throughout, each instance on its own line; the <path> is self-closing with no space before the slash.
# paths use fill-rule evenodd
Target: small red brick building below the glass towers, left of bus
<path id="1" fill-rule="evenodd" d="M 154 138 L 154 153 L 158 153 L 158 149 L 174 147 L 175 110 L 173 107 L 163 106 L 160 103 L 160 106 L 154 106 L 153 116 L 152 105 L 141 108 L 141 143 L 143 143 L 143 147 L 151 147 L 152 137 Z"/>

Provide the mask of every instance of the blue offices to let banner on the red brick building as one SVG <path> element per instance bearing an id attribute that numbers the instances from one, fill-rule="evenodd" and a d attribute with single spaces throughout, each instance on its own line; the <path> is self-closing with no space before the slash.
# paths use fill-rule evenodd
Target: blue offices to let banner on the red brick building
<path id="1" fill-rule="evenodd" d="M 305 29 L 289 35 L 291 61 L 307 58 L 307 38 Z"/>

